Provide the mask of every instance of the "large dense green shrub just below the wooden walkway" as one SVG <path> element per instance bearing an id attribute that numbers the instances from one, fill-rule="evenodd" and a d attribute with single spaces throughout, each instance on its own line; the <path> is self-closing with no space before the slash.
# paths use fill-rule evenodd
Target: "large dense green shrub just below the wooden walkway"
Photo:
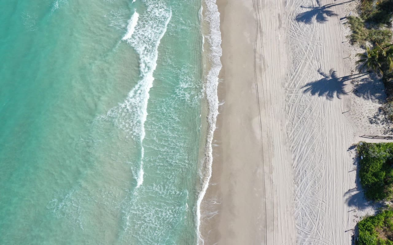
<path id="1" fill-rule="evenodd" d="M 390 200 L 393 196 L 393 143 L 358 144 L 360 183 L 369 200 Z"/>

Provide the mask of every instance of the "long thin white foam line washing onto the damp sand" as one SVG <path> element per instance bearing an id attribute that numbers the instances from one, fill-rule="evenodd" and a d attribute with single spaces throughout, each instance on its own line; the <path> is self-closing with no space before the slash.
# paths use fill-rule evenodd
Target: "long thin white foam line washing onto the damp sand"
<path id="1" fill-rule="evenodd" d="M 211 164 L 213 162 L 213 133 L 216 129 L 216 121 L 218 115 L 219 100 L 217 94 L 218 76 L 221 70 L 220 57 L 222 55 L 221 49 L 221 32 L 220 32 L 220 13 L 216 5 L 216 0 L 204 0 L 206 4 L 206 11 L 203 21 L 207 23 L 209 27 L 209 33 L 205 36 L 209 49 L 204 52 L 206 54 L 211 68 L 205 77 L 205 92 L 208 100 L 209 113 L 208 113 L 208 132 L 205 146 L 205 158 L 204 164 L 206 167 L 202 169 L 201 175 L 203 179 L 202 191 L 198 195 L 198 201 L 196 206 L 196 218 L 197 218 L 197 235 L 198 244 L 204 244 L 204 240 L 200 233 L 200 204 L 205 196 L 206 190 L 208 189 L 209 180 L 211 178 Z"/>

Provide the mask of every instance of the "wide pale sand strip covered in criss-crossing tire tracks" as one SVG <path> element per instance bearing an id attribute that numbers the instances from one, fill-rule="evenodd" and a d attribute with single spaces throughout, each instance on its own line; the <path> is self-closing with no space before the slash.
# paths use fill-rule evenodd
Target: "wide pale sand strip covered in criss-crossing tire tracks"
<path id="1" fill-rule="evenodd" d="M 320 2 L 322 5 L 338 3 Z M 350 232 L 345 233 L 349 214 L 344 193 L 350 186 L 346 170 L 352 160 L 346 150 L 353 129 L 342 115 L 345 98 L 337 98 L 334 91 L 333 98 L 301 91 L 307 83 L 322 78 L 318 69 L 324 73 L 333 69 L 339 77 L 348 75 L 341 57 L 342 27 L 338 16 L 327 16 L 323 23 L 317 23 L 315 18 L 311 24 L 298 22 L 296 16 L 310 10 L 301 6 L 316 7 L 317 3 L 288 0 L 286 4 L 292 65 L 286 74 L 285 101 L 296 185 L 296 244 L 351 244 Z M 338 8 L 334 6 L 329 10 L 337 12 Z M 313 89 L 334 89 L 320 86 Z"/>

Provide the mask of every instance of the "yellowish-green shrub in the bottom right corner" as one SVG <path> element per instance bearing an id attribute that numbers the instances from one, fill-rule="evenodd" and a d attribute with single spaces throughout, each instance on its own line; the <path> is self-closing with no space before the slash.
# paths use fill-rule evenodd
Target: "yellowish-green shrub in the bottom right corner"
<path id="1" fill-rule="evenodd" d="M 393 245 L 393 211 L 385 210 L 358 223 L 358 245 Z"/>

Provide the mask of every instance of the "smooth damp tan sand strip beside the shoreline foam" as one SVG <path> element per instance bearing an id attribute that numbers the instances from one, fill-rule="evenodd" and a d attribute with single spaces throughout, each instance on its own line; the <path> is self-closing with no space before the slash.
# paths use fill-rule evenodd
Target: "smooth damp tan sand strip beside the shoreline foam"
<path id="1" fill-rule="evenodd" d="M 263 45 L 263 21 L 257 20 L 262 7 L 253 1 L 218 0 L 217 5 L 222 36 L 218 95 L 222 105 L 213 138 L 212 176 L 201 207 L 201 233 L 207 244 L 270 244 L 275 239 L 270 223 L 280 209 L 275 209 L 277 199 L 272 197 L 269 173 L 274 153 L 265 120 L 273 107 L 264 111 L 268 91 L 261 89 L 263 74 L 255 69 L 263 62 L 257 49 Z M 282 138 L 281 133 L 273 133 L 273 137 Z"/>

